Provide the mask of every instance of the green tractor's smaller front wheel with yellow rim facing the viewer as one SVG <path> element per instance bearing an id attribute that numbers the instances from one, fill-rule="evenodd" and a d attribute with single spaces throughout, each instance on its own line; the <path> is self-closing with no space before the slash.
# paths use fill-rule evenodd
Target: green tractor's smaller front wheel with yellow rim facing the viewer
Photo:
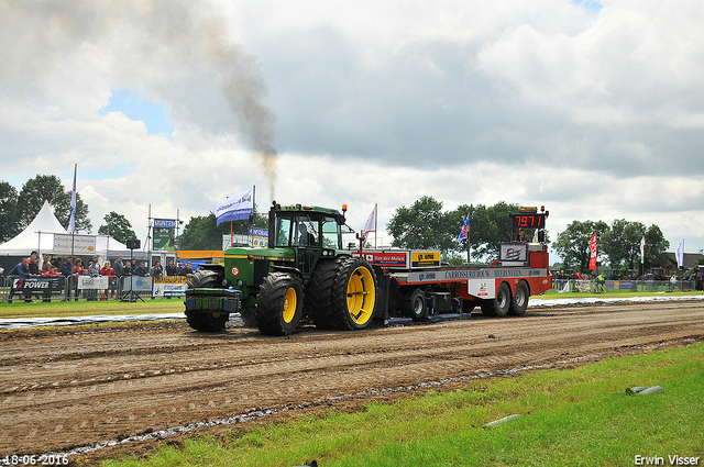
<path id="1" fill-rule="evenodd" d="M 296 331 L 304 311 L 304 288 L 297 276 L 272 273 L 256 296 L 254 318 L 262 334 L 288 335 Z"/>

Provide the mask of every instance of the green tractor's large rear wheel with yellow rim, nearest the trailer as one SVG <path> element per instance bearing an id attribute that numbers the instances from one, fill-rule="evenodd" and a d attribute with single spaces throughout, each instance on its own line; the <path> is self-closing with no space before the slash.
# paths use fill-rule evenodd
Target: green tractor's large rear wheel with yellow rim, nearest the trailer
<path id="1" fill-rule="evenodd" d="M 372 324 L 376 304 L 376 277 L 362 258 L 339 264 L 332 286 L 332 314 L 341 331 L 363 330 Z"/>

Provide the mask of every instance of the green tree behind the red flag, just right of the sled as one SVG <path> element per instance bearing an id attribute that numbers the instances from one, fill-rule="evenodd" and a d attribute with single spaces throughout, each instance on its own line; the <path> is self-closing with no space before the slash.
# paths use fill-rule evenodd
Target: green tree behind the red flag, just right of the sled
<path id="1" fill-rule="evenodd" d="M 597 233 L 598 245 L 598 238 L 603 237 L 608 230 L 608 224 L 603 221 L 573 221 L 564 232 L 558 234 L 558 240 L 554 242 L 553 247 L 562 256 L 566 269 L 575 267 L 585 273 L 588 270 L 592 254 L 590 248 L 592 235 L 594 232 Z M 600 252 L 597 253 L 598 256 L 604 256 L 603 251 L 597 249 L 597 252 Z"/>

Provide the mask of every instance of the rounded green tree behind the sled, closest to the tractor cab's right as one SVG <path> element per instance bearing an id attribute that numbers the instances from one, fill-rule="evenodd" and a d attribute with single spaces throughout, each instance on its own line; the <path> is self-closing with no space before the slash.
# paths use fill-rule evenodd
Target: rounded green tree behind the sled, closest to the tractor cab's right
<path id="1" fill-rule="evenodd" d="M 425 196 L 410 208 L 398 208 L 386 224 L 386 231 L 394 236 L 392 246 L 447 252 L 457 247 L 459 226 L 452 212 L 442 212 L 441 201 Z"/>

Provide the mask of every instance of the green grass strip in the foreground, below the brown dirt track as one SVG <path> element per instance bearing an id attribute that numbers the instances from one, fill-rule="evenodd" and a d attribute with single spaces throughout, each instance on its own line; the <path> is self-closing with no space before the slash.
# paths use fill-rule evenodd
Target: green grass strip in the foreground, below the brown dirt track
<path id="1" fill-rule="evenodd" d="M 653 396 L 627 396 L 660 385 Z M 300 416 L 186 440 L 105 466 L 630 466 L 636 456 L 704 458 L 704 345 L 572 369 L 479 380 L 358 413 Z M 522 414 L 507 424 L 487 422 Z M 702 462 L 700 460 L 700 464 Z M 669 464 L 668 464 L 669 465 Z"/>

